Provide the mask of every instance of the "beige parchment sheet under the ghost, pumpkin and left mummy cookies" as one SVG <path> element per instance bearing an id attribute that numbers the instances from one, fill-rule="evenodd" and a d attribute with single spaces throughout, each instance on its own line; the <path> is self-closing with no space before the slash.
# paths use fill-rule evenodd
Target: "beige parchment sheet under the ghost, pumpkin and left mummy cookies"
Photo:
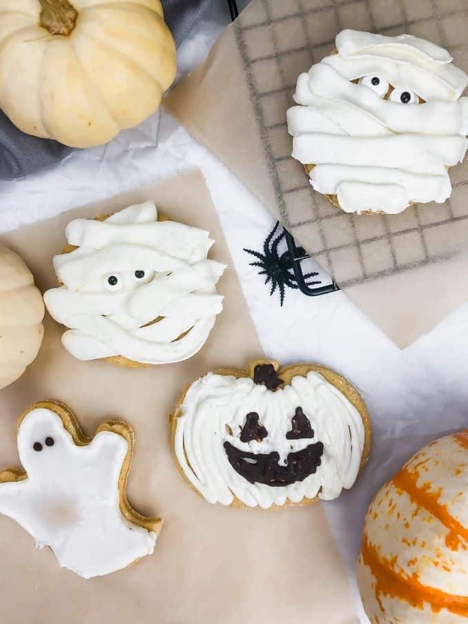
<path id="1" fill-rule="evenodd" d="M 211 257 L 231 264 L 202 177 L 170 182 L 71 211 L 1 237 L 23 255 L 41 290 L 55 285 L 51 258 L 73 218 L 112 213 L 155 199 L 174 220 L 206 228 Z M 91 435 L 101 420 L 121 418 L 135 429 L 130 502 L 165 519 L 155 553 L 133 567 L 84 581 L 58 567 L 49 549 L 0 516 L 0 612 L 5 624 L 351 624 L 347 578 L 322 507 L 276 512 L 212 506 L 177 473 L 167 416 L 184 386 L 217 367 L 244 368 L 262 355 L 233 269 L 222 278 L 225 310 L 204 349 L 188 362 L 123 369 L 79 362 L 61 346 L 63 328 L 46 315 L 39 357 L 0 391 L 0 465 L 18 465 L 15 422 L 37 400 L 55 398 L 77 414 Z"/>

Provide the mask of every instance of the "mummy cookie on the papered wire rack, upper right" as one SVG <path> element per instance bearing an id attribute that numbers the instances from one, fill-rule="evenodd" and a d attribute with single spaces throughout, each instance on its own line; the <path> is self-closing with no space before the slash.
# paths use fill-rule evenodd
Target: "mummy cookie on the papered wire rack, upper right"
<path id="1" fill-rule="evenodd" d="M 467 150 L 468 76 L 430 41 L 343 30 L 298 78 L 293 157 L 347 213 L 400 213 L 450 196 Z"/>

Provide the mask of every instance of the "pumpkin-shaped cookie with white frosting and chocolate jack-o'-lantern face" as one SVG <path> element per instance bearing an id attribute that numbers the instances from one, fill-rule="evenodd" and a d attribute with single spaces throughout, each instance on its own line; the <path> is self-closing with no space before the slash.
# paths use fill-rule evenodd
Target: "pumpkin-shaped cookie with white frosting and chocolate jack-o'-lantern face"
<path id="1" fill-rule="evenodd" d="M 314 364 L 258 360 L 195 380 L 170 416 L 185 480 L 208 503 L 271 509 L 332 500 L 369 458 L 358 391 Z"/>

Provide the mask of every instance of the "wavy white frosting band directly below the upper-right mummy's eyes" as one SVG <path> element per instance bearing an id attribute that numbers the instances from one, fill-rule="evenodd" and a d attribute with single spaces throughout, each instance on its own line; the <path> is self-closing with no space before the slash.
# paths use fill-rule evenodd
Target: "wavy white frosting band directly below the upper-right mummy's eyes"
<path id="1" fill-rule="evenodd" d="M 345 101 L 366 111 L 394 132 L 463 136 L 467 133 L 468 108 L 462 104 L 466 98 L 402 106 L 381 99 L 367 86 L 350 82 L 324 63 L 314 65 L 309 71 L 309 88 L 315 95 Z"/>

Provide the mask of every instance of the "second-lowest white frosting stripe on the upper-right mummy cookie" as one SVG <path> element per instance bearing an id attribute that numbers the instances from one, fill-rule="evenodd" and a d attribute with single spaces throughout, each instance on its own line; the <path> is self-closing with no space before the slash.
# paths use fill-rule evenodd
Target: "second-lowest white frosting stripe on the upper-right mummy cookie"
<path id="1" fill-rule="evenodd" d="M 338 186 L 344 180 L 368 182 L 369 175 L 374 184 L 404 186 L 414 202 L 445 202 L 451 192 L 449 175 L 445 170 L 443 175 L 425 175 L 385 167 L 369 168 L 322 164 L 315 166 L 309 175 L 315 191 L 324 195 L 336 195 Z M 341 202 L 340 206 L 342 206 Z"/>

